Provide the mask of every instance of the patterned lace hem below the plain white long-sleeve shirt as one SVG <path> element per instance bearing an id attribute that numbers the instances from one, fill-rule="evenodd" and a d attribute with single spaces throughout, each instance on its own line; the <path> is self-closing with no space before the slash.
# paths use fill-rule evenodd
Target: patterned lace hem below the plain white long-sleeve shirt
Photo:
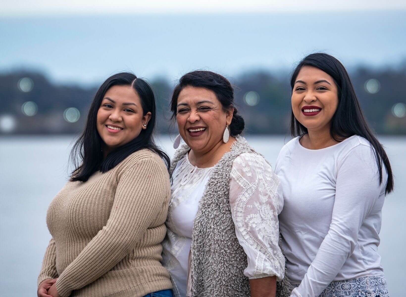
<path id="1" fill-rule="evenodd" d="M 389 297 L 389 291 L 384 275 L 369 275 L 331 282 L 319 297 Z"/>

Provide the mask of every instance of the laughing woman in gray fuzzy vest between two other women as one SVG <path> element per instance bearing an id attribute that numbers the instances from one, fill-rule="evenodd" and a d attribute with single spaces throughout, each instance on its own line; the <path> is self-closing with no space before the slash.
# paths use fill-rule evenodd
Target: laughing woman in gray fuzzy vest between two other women
<path id="1" fill-rule="evenodd" d="M 176 296 L 289 296 L 278 214 L 280 181 L 240 136 L 229 81 L 193 71 L 175 87 L 179 129 L 163 264 Z M 181 140 L 186 144 L 179 146 Z"/>

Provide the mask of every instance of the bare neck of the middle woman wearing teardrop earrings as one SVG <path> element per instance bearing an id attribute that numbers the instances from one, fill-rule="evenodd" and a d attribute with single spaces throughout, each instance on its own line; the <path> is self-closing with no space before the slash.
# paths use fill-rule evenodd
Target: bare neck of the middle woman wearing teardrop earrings
<path id="1" fill-rule="evenodd" d="M 220 140 L 208 151 L 197 151 L 191 149 L 189 153 L 189 161 L 192 165 L 199 168 L 212 167 L 216 165 L 218 161 L 220 161 L 225 153 L 230 151 L 231 144 L 233 144 L 234 141 L 234 137 L 230 137 L 227 143 Z"/>

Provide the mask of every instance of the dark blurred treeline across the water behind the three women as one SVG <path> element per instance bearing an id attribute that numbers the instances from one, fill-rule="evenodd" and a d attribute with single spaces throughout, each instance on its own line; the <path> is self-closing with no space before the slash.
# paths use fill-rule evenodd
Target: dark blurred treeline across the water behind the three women
<path id="1" fill-rule="evenodd" d="M 406 134 L 406 117 L 404 104 L 397 113 L 393 111 L 397 103 L 406 102 L 406 63 L 398 68 L 368 69 L 356 67 L 350 71 L 358 99 L 371 127 L 379 134 Z M 32 90 L 24 92 L 18 82 L 22 77 L 29 77 Z M 270 73 L 267 71 L 249 71 L 236 77 L 229 77 L 235 85 L 235 103 L 244 116 L 246 133 L 286 134 L 290 119 L 289 73 Z M 368 92 L 366 82 L 374 79 L 379 88 Z M 100 82 L 102 83 L 102 82 Z M 158 129 L 160 133 L 169 133 L 169 100 L 174 82 L 152 79 L 158 107 Z M 87 110 L 98 86 L 81 88 L 74 85 L 53 84 L 38 72 L 15 71 L 0 74 L 0 98 L 2 108 L 0 117 L 7 115 L 15 119 L 15 127 L 0 134 L 60 134 L 80 133 L 86 119 Z M 244 99 L 247 92 L 255 91 L 258 97 L 252 101 Z M 22 105 L 33 101 L 37 112 L 27 116 Z M 251 105 L 248 105 L 251 103 Z M 399 104 L 398 104 L 399 105 Z M 64 119 L 67 108 L 77 108 L 80 118 L 74 123 Z M 398 106 L 399 107 L 399 106 Z M 174 131 L 176 133 L 176 131 Z"/>

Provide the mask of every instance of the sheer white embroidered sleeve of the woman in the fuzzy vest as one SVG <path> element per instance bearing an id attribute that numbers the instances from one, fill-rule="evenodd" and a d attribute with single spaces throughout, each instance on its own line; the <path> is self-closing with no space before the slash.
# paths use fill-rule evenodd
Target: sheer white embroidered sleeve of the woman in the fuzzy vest
<path id="1" fill-rule="evenodd" d="M 244 275 L 249 279 L 285 273 L 285 258 L 279 248 L 278 214 L 283 207 L 282 189 L 271 166 L 254 153 L 244 153 L 233 162 L 229 202 L 238 242 L 247 255 Z"/>

